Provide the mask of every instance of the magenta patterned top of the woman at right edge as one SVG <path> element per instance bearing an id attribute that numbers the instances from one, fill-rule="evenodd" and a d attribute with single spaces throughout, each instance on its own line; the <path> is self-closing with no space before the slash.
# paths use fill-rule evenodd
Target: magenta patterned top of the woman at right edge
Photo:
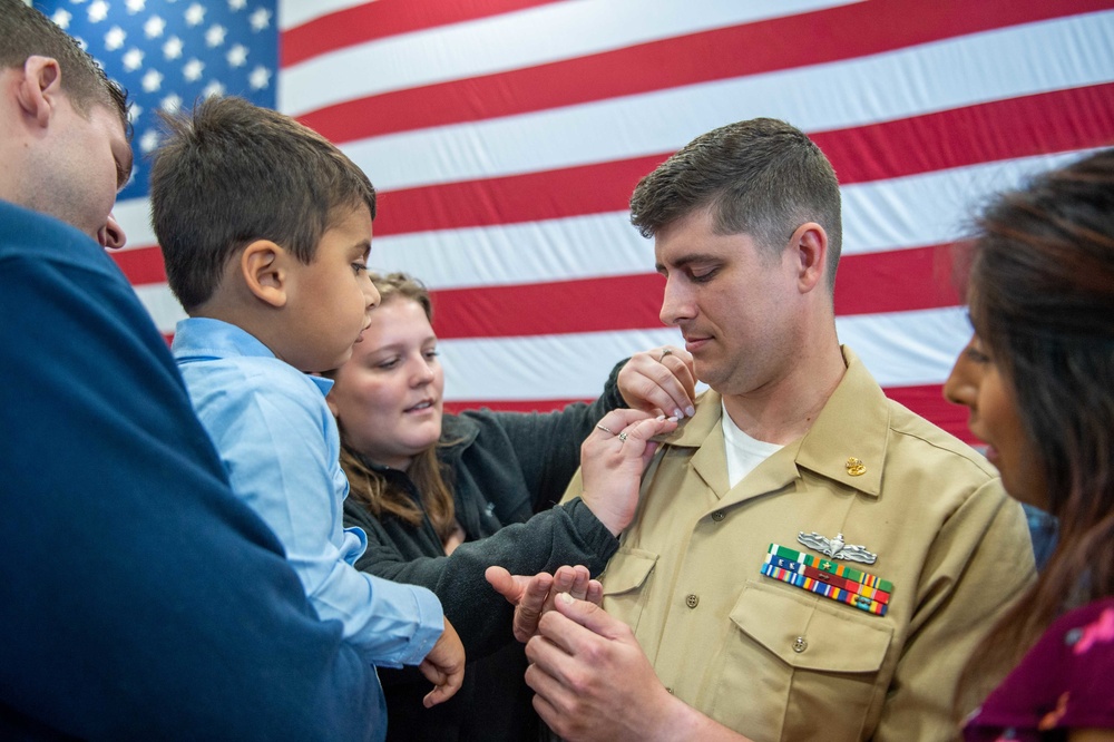
<path id="1" fill-rule="evenodd" d="M 1114 597 L 1056 621 L 971 715 L 964 739 L 1047 740 L 1063 739 L 1063 730 L 1114 730 L 1112 676 Z"/>

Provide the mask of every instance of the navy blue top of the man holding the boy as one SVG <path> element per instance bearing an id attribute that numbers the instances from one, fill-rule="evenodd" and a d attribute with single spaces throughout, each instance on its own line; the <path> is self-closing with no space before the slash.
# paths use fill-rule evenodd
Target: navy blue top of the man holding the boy
<path id="1" fill-rule="evenodd" d="M 382 738 L 130 286 L 2 203 L 0 369 L 0 738 Z"/>

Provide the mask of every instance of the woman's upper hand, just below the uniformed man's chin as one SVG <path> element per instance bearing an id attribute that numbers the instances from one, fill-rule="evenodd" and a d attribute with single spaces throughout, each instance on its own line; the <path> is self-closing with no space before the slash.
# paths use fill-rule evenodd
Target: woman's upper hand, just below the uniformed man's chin
<path id="1" fill-rule="evenodd" d="M 635 353 L 619 369 L 617 381 L 632 409 L 678 419 L 694 412 L 696 369 L 688 351 L 664 345 Z"/>

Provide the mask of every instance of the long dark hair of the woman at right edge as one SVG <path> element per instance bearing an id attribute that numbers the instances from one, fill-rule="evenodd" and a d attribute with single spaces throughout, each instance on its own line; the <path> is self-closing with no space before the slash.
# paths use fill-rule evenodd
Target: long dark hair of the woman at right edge
<path id="1" fill-rule="evenodd" d="M 1114 595 L 1114 149 L 997 197 L 976 228 L 971 322 L 1015 394 L 1059 539 L 965 685 L 987 653 L 1016 662 L 1059 613 Z"/>

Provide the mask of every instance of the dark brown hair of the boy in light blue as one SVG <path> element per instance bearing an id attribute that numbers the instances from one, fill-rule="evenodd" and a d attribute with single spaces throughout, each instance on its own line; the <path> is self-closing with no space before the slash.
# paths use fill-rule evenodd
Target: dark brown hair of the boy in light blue
<path id="1" fill-rule="evenodd" d="M 256 240 L 309 264 L 343 209 L 367 206 L 375 218 L 363 170 L 289 116 L 229 96 L 165 121 L 168 138 L 150 170 L 152 222 L 187 312 L 212 297 L 228 260 Z"/>

